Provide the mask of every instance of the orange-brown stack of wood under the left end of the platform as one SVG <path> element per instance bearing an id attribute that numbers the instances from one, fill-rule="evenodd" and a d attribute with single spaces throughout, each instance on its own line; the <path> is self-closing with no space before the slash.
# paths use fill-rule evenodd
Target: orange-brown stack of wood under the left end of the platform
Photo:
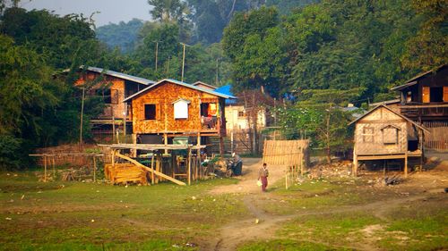
<path id="1" fill-rule="evenodd" d="M 112 184 L 138 183 L 147 185 L 147 172 L 133 163 L 115 163 L 104 166 L 104 174 Z"/>

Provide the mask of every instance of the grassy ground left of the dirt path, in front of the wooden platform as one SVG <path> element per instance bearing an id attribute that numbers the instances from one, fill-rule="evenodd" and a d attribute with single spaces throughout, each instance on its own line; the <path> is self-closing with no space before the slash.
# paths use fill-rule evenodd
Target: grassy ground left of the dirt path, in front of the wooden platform
<path id="1" fill-rule="evenodd" d="M 9 175 L 8 175 L 9 174 Z M 0 249 L 196 249 L 221 224 L 246 216 L 235 196 L 190 187 L 39 182 L 33 172 L 0 173 Z"/>

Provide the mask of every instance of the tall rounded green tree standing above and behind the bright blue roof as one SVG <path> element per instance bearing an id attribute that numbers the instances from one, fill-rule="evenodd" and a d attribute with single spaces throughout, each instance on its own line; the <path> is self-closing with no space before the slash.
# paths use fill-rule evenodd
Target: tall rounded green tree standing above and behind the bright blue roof
<path id="1" fill-rule="evenodd" d="M 284 75 L 282 30 L 275 8 L 262 7 L 249 13 L 237 13 L 224 30 L 224 53 L 233 63 L 234 87 L 265 87 L 277 96 Z"/>

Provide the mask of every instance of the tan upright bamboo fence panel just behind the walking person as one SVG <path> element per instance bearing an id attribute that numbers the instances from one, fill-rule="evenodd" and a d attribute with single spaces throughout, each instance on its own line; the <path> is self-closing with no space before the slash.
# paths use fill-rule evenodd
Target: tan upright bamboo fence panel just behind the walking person
<path id="1" fill-rule="evenodd" d="M 305 161 L 308 140 L 265 140 L 263 163 L 301 166 Z"/>

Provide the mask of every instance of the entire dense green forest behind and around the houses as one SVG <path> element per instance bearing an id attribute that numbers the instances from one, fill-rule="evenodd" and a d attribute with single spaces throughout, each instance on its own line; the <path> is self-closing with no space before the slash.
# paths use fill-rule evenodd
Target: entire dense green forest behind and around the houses
<path id="1" fill-rule="evenodd" d="M 153 21 L 95 28 L 90 18 L 26 11 L 0 1 L 0 166 L 38 146 L 75 141 L 80 65 L 147 79 L 180 79 L 285 99 L 289 138 L 343 146 L 340 107 L 393 98 L 389 88 L 448 62 L 443 0 L 149 0 Z M 157 58 L 156 58 L 157 50 Z M 69 69 L 66 78 L 59 73 Z M 86 101 L 89 118 L 101 111 Z M 328 123 L 332 121 L 332 123 Z M 89 130 L 84 130 L 89 138 Z M 347 144 L 345 144 L 347 145 Z"/>

